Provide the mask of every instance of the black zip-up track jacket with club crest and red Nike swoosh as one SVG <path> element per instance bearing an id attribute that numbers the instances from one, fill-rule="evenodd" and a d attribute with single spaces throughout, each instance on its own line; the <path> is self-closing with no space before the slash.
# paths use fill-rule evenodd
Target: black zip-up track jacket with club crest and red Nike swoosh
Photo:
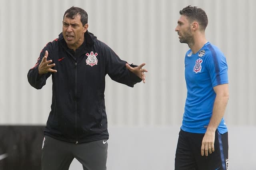
<path id="1" fill-rule="evenodd" d="M 108 139 L 104 101 L 105 76 L 130 87 L 142 81 L 130 72 L 108 45 L 88 31 L 84 43 L 69 49 L 62 33 L 40 53 L 36 65 L 28 71 L 28 82 L 36 89 L 52 75 L 52 105 L 44 134 L 67 142 L 82 143 Z M 48 51 L 56 73 L 38 75 L 38 66 Z M 135 67 L 135 65 L 131 65 Z"/>

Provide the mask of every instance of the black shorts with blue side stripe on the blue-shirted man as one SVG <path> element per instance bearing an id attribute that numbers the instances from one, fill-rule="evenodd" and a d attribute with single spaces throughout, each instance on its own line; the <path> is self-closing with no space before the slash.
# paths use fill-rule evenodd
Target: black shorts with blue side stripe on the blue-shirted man
<path id="1" fill-rule="evenodd" d="M 201 156 L 204 134 L 180 130 L 175 157 L 175 170 L 227 170 L 228 132 L 215 133 L 214 152 Z"/>

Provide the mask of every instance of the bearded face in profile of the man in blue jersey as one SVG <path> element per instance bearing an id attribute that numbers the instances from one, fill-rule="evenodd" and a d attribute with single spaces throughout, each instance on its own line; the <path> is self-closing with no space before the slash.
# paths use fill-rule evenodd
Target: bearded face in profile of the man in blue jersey
<path id="1" fill-rule="evenodd" d="M 175 28 L 175 31 L 179 35 L 179 39 L 181 43 L 191 43 L 193 42 L 193 36 L 190 29 L 190 22 L 186 18 L 186 16 L 181 15 L 178 20 L 178 25 Z"/>

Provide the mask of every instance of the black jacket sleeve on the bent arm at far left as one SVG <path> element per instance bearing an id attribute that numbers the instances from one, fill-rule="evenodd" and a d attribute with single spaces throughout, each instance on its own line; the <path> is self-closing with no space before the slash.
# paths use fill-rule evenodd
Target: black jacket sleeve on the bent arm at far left
<path id="1" fill-rule="evenodd" d="M 44 49 L 42 49 L 42 51 L 40 52 L 40 56 L 37 59 L 36 64 L 34 65 L 34 67 L 32 67 L 31 69 L 29 69 L 28 71 L 28 82 L 30 83 L 30 85 L 36 89 L 42 89 L 42 87 L 46 84 L 46 79 L 48 79 L 48 77 L 50 77 L 51 73 L 45 73 L 41 76 L 39 76 L 38 74 L 38 66 L 42 61 L 42 58 L 44 57 L 45 51 L 48 51 L 48 57 L 47 60 L 51 59 L 51 45 L 50 43 L 48 43 Z"/>

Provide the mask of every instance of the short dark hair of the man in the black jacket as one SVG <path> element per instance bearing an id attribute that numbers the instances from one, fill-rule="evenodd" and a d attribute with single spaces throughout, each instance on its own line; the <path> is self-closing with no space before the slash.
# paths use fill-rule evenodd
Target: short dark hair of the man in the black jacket
<path id="1" fill-rule="evenodd" d="M 71 8 L 66 10 L 66 12 L 64 13 L 63 20 L 64 20 L 64 17 L 66 14 L 67 14 L 66 17 L 71 18 L 71 19 L 74 19 L 75 16 L 80 15 L 81 22 L 82 22 L 83 26 L 88 23 L 88 14 L 82 8 L 72 6 Z"/>

